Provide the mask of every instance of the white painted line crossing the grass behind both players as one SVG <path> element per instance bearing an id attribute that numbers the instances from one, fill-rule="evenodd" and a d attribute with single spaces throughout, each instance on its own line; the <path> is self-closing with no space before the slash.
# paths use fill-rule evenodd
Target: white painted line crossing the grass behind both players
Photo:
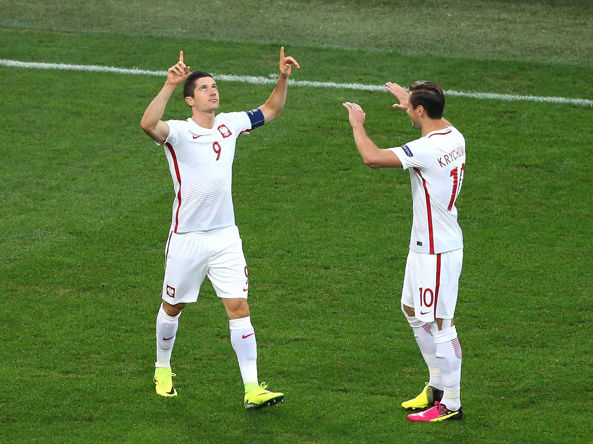
<path id="1" fill-rule="evenodd" d="M 38 69 L 66 69 L 73 71 L 93 71 L 93 72 L 114 72 L 118 74 L 136 74 L 146 76 L 166 76 L 167 71 L 149 71 L 146 69 L 127 69 L 111 66 L 97 65 L 68 65 L 66 63 L 36 63 L 19 62 L 18 60 L 0 59 L 0 65 L 19 68 L 38 68 Z M 235 76 L 229 74 L 213 74 L 216 79 L 229 82 L 253 83 L 255 85 L 266 85 L 276 83 L 276 79 L 258 76 Z M 362 91 L 386 91 L 383 85 L 364 85 L 362 83 L 334 83 L 334 82 L 314 82 L 307 80 L 291 80 L 291 85 L 295 86 L 315 86 L 317 88 L 336 88 L 336 89 L 359 89 Z M 573 105 L 593 106 L 593 100 L 590 99 L 572 99 L 568 97 L 550 97 L 534 95 L 515 95 L 515 94 L 496 94 L 493 92 L 466 92 L 448 89 L 444 91 L 445 95 L 458 97 L 473 97 L 475 99 L 498 99 L 498 100 L 521 100 L 528 102 L 549 102 Z"/>

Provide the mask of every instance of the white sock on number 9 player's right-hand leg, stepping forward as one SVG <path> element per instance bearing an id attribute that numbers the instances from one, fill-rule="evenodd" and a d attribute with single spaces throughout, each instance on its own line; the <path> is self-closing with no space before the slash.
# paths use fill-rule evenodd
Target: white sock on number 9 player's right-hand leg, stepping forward
<path id="1" fill-rule="evenodd" d="M 251 317 L 242 317 L 228 321 L 231 330 L 232 348 L 237 353 L 243 384 L 257 384 L 257 343 L 256 334 L 251 326 Z"/>

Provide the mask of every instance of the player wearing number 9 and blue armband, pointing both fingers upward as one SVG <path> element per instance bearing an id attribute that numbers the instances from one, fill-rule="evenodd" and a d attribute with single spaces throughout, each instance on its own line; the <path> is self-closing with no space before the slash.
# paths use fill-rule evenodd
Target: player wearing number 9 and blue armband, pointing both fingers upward
<path id="1" fill-rule="evenodd" d="M 168 69 L 161 92 L 146 108 L 141 127 L 157 145 L 164 145 L 173 178 L 173 221 L 165 246 L 162 304 L 157 315 L 157 394 L 176 396 L 171 377 L 171 352 L 181 310 L 197 301 L 208 276 L 229 318 L 232 347 L 237 353 L 245 387 L 245 408 L 259 408 L 283 401 L 280 392 L 266 390 L 257 379 L 256 336 L 251 326 L 247 291 L 249 278 L 243 244 L 235 226 L 231 178 L 235 143 L 240 134 L 269 123 L 280 115 L 286 101 L 291 66 L 299 65 L 280 49 L 280 77 L 266 103 L 248 112 L 221 112 L 219 91 L 212 75 L 190 73 L 179 62 Z M 162 113 L 180 83 L 192 110 L 186 120 L 162 121 Z"/>

